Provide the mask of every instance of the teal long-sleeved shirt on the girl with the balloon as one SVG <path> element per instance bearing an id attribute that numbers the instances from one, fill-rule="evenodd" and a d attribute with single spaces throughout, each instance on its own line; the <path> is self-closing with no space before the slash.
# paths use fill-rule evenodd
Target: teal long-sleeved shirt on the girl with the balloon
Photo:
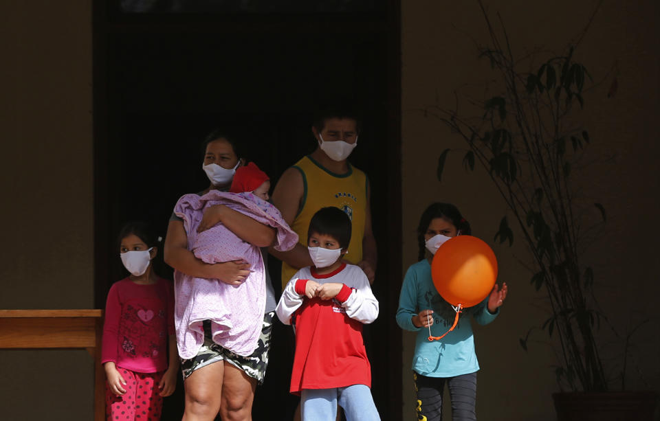
<path id="1" fill-rule="evenodd" d="M 439 337 L 452 327 L 456 312 L 439 295 L 433 285 L 431 265 L 428 260 L 424 259 L 412 264 L 408 268 L 404 284 L 401 286 L 399 310 L 397 310 L 399 326 L 405 330 L 417 332 L 412 371 L 428 377 L 454 377 L 476 372 L 479 369 L 479 363 L 474 351 L 470 315 L 481 325 L 493 321 L 499 313 L 499 308 L 494 313 L 489 312 L 487 301 L 488 297 L 480 304 L 463 310 L 456 328 L 443 339 L 429 341 L 428 328 L 417 328 L 412 324 L 412 317 L 419 314 L 421 310 L 433 310 L 431 334 Z M 453 316 L 451 312 L 453 312 Z"/>

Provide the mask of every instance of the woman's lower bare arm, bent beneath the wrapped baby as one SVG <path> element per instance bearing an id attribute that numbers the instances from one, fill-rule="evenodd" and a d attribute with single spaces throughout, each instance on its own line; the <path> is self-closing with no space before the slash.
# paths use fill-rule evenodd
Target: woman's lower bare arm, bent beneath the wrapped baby
<path id="1" fill-rule="evenodd" d="M 174 269 L 188 276 L 218 279 L 225 284 L 241 284 L 250 275 L 250 264 L 245 262 L 209 264 L 196 258 L 195 254 L 188 250 L 188 235 L 184 223 L 180 220 L 170 220 L 167 227 L 164 260 Z"/>

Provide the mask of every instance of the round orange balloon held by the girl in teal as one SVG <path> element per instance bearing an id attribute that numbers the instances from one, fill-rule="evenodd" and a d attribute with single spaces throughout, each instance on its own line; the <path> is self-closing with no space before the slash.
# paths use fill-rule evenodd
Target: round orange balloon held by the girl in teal
<path id="1" fill-rule="evenodd" d="M 452 306 L 476 306 L 495 285 L 495 253 L 476 237 L 451 238 L 435 252 L 431 277 L 438 293 Z"/>

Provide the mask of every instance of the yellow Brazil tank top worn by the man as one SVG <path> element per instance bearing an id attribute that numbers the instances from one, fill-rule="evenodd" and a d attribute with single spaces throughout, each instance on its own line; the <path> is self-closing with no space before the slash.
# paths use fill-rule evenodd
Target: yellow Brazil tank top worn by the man
<path id="1" fill-rule="evenodd" d="M 362 260 L 362 238 L 364 238 L 364 219 L 366 218 L 367 178 L 364 172 L 351 166 L 346 174 L 330 172 L 313 158 L 303 157 L 293 168 L 303 176 L 303 200 L 291 227 L 300 237 L 298 242 L 307 247 L 307 229 L 309 220 L 318 209 L 336 206 L 351 218 L 353 231 L 349 253 L 345 259 L 351 263 Z M 282 263 L 282 288 L 296 274 L 298 268 Z"/>

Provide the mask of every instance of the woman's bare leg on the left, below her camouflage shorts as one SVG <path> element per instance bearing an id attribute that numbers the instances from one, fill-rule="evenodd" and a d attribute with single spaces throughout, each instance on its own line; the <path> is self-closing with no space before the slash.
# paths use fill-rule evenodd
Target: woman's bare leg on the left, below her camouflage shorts
<path id="1" fill-rule="evenodd" d="M 181 421 L 213 421 L 220 410 L 224 373 L 224 363 L 219 361 L 186 378 L 186 409 Z"/>

